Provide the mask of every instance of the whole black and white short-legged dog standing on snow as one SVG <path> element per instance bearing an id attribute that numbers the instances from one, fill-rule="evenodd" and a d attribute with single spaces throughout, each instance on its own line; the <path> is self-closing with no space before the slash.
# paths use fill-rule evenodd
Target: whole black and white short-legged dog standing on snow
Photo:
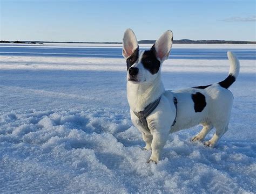
<path id="1" fill-rule="evenodd" d="M 204 140 L 216 128 L 206 146 L 213 147 L 227 131 L 233 95 L 227 88 L 239 74 L 239 61 L 231 52 L 228 77 L 219 83 L 184 90 L 165 90 L 160 68 L 169 58 L 172 31 L 166 31 L 149 51 L 139 51 L 136 36 L 127 29 L 123 38 L 123 56 L 127 64 L 127 98 L 132 123 L 142 133 L 144 149 L 152 149 L 148 162 L 158 162 L 169 133 L 203 125 L 191 140 Z"/>

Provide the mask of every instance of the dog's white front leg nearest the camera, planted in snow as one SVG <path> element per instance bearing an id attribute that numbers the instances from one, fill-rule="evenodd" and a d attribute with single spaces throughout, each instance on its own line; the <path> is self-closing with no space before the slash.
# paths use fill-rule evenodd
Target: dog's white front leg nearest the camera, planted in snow
<path id="1" fill-rule="evenodd" d="M 151 134 L 153 135 L 153 140 L 151 143 L 152 154 L 147 163 L 151 161 L 157 163 L 160 160 L 161 152 L 163 150 L 163 147 L 165 146 L 169 131 L 163 130 L 159 132 L 157 130 L 152 130 Z"/>

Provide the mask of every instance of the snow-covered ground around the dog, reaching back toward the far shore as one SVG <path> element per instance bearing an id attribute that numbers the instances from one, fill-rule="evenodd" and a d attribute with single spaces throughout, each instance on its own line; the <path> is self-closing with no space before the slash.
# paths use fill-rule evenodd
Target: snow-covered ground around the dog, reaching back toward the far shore
<path id="1" fill-rule="evenodd" d="M 256 192 L 255 46 L 199 46 L 250 55 L 230 88 L 230 129 L 215 148 L 190 142 L 199 126 L 172 134 L 156 165 L 146 163 L 150 152 L 140 149 L 144 142 L 131 124 L 124 59 L 14 54 L 17 46 L 6 45 L 0 44 L 0 192 Z M 195 52 L 197 46 L 182 45 Z M 165 61 L 166 89 L 223 80 L 228 61 L 212 59 L 211 51 Z"/>

